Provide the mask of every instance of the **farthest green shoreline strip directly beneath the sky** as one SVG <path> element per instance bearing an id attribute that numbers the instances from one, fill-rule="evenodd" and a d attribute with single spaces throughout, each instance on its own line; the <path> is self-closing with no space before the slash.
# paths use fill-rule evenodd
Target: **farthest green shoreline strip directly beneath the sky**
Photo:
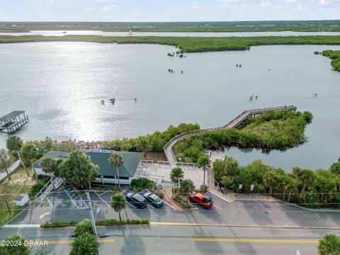
<path id="1" fill-rule="evenodd" d="M 15 24 L 16 26 L 12 26 Z M 103 30 L 111 32 L 340 31 L 340 21 L 0 22 L 1 30 Z"/>

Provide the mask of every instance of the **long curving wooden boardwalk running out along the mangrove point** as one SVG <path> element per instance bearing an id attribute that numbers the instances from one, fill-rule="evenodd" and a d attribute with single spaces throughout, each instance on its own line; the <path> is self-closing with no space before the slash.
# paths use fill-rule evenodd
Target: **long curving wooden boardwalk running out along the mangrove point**
<path id="1" fill-rule="evenodd" d="M 176 137 L 173 137 L 165 146 L 164 146 L 164 154 L 166 156 L 166 159 L 168 159 L 171 166 L 176 166 L 177 161 L 174 154 L 174 151 L 172 150 L 172 147 L 176 145 L 176 142 L 179 142 L 183 140 L 185 137 L 188 137 L 189 135 L 198 134 L 200 132 L 206 132 L 206 131 L 212 131 L 212 130 L 220 130 L 220 129 L 226 129 L 226 128 L 236 128 L 239 124 L 241 124 L 246 118 L 252 118 L 258 115 L 261 115 L 263 113 L 266 113 L 267 111 L 296 111 L 295 106 L 279 106 L 279 107 L 271 107 L 271 108 L 259 108 L 259 109 L 251 109 L 246 110 L 240 115 L 238 115 L 236 118 L 231 120 L 227 125 L 224 125 L 222 127 L 218 128 L 207 128 L 202 130 L 193 130 L 193 131 L 187 131 L 183 132 L 180 135 L 177 135 Z"/>

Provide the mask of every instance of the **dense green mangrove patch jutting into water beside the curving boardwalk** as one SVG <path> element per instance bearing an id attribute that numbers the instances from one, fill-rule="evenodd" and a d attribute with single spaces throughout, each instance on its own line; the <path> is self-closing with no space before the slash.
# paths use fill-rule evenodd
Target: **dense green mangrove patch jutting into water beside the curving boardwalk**
<path id="1" fill-rule="evenodd" d="M 285 151 L 306 142 L 305 126 L 312 121 L 309 112 L 268 111 L 247 118 L 237 128 L 213 130 L 191 135 L 174 146 L 176 158 L 184 162 L 198 162 L 206 149 L 238 147 L 244 151 L 273 149 Z"/>

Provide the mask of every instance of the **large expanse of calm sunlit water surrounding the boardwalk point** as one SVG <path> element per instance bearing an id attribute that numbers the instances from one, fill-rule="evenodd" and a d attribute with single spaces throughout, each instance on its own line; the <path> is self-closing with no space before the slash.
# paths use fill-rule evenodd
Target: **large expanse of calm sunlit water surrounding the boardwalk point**
<path id="1" fill-rule="evenodd" d="M 340 73 L 313 52 L 327 49 L 340 47 L 260 46 L 180 59 L 167 57 L 174 47 L 161 45 L 3 44 L 0 115 L 27 111 L 30 123 L 18 133 L 24 140 L 108 140 L 182 122 L 215 127 L 247 108 L 293 104 L 314 114 L 306 130 L 309 142 L 285 153 L 231 149 L 227 154 L 241 164 L 261 158 L 288 171 L 292 166 L 326 168 L 340 156 Z M 259 100 L 249 102 L 251 94 Z M 109 98 L 117 98 L 114 106 Z M 1 134 L 0 147 L 5 140 Z"/>

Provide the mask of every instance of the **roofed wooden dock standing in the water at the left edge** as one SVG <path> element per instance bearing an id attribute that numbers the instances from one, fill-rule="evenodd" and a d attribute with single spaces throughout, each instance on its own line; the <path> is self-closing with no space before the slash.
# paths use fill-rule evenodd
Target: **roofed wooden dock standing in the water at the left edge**
<path id="1" fill-rule="evenodd" d="M 0 132 L 12 135 L 28 123 L 25 111 L 13 111 L 0 118 Z"/>

